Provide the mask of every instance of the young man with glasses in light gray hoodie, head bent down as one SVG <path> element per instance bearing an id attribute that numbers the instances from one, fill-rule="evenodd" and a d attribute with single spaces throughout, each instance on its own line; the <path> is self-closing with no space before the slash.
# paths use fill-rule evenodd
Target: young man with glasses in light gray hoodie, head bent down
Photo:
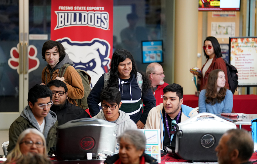
<path id="1" fill-rule="evenodd" d="M 93 118 L 103 119 L 116 124 L 115 153 L 119 153 L 117 137 L 128 129 L 137 129 L 136 124 L 129 115 L 119 108 L 121 107 L 121 93 L 118 88 L 107 87 L 100 95 L 102 111 Z"/>

